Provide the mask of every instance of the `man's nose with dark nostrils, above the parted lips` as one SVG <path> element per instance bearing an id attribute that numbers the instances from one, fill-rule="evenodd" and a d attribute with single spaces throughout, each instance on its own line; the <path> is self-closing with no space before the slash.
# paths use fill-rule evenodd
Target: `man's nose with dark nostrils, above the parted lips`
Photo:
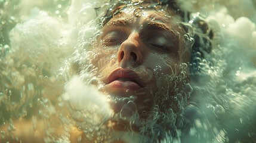
<path id="1" fill-rule="evenodd" d="M 139 35 L 137 32 L 132 32 L 120 45 L 118 61 L 135 61 L 135 63 L 141 63 L 141 60 L 142 55 L 140 51 Z"/>

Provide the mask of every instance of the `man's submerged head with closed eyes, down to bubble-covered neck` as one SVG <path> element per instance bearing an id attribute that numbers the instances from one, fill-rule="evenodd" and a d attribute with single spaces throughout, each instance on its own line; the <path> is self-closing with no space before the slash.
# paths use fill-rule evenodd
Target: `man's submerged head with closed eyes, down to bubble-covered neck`
<path id="1" fill-rule="evenodd" d="M 176 8 L 174 1 L 124 1 L 101 18 L 85 69 L 113 110 L 108 128 L 152 134 L 159 125 L 183 126 L 193 38 Z"/>

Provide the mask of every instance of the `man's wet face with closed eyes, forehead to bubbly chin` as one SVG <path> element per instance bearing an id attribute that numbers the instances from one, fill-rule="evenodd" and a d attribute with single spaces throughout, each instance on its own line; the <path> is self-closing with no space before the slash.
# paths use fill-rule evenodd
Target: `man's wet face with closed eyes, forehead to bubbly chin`
<path id="1" fill-rule="evenodd" d="M 103 26 L 92 64 L 115 113 L 146 117 L 155 105 L 173 106 L 188 57 L 182 35 L 177 18 L 155 10 L 125 8 Z"/>

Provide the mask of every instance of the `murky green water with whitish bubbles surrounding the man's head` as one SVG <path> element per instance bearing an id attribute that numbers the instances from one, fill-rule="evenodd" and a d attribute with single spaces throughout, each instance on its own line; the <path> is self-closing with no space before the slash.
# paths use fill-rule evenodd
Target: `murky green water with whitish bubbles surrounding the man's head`
<path id="1" fill-rule="evenodd" d="M 122 98 L 101 92 L 98 67 L 115 67 L 116 51 L 92 47 L 112 3 L 0 0 L 0 142 L 256 142 L 256 2 L 179 2 L 192 13 L 185 24 L 200 14 L 214 38 L 207 43 L 209 29 L 194 29 L 198 38 L 174 32 L 203 52 L 172 67 L 172 76 L 162 76 L 161 65 L 148 72 L 158 75 L 158 92 L 147 111 L 137 102 L 144 92 Z M 187 73 L 189 82 L 179 90 L 174 83 L 187 81 Z M 174 97 L 168 96 L 172 88 Z M 167 101 L 173 105 L 164 106 Z M 115 111 L 112 104 L 122 107 Z M 125 129 L 112 129 L 115 123 Z"/>

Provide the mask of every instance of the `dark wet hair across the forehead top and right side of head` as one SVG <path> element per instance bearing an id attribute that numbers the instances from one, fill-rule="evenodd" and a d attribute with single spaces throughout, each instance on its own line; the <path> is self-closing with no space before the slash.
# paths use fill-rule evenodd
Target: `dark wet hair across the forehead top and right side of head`
<path id="1" fill-rule="evenodd" d="M 144 0 L 144 1 L 115 1 L 110 0 L 110 7 L 107 9 L 104 17 L 100 21 L 100 27 L 103 27 L 114 15 L 119 14 L 124 8 L 136 6 L 138 9 L 164 10 L 169 15 L 179 15 L 181 18 L 181 27 L 186 33 L 187 45 L 190 48 L 190 74 L 201 72 L 201 62 L 206 55 L 212 51 L 212 39 L 214 33 L 209 27 L 203 15 L 197 14 L 189 20 L 191 13 L 181 10 L 175 0 Z"/>

